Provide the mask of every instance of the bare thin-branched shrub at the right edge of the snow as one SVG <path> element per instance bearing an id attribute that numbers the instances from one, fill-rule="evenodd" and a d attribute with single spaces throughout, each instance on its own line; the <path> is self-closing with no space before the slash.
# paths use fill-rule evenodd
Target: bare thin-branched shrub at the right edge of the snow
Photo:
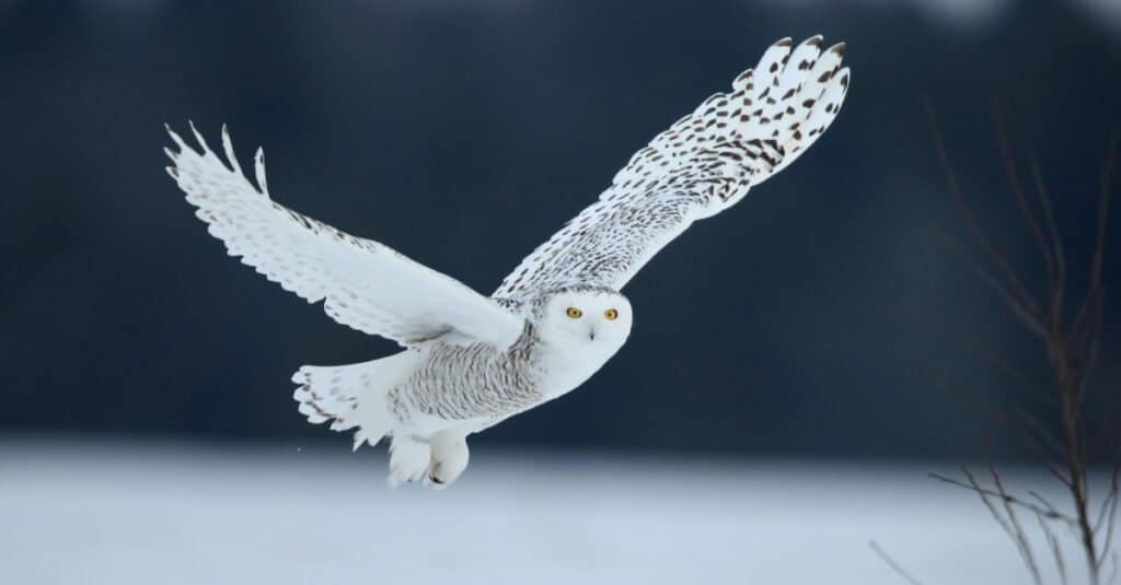
<path id="1" fill-rule="evenodd" d="M 1102 271 L 1106 251 L 1106 227 L 1114 168 L 1119 158 L 1118 140 L 1115 136 L 1111 138 L 1108 152 L 1099 166 L 1096 231 L 1091 252 L 1087 285 L 1081 298 L 1074 299 L 1077 309 L 1074 312 L 1073 318 L 1067 318 L 1066 305 L 1071 296 L 1067 250 L 1064 247 L 1051 197 L 1043 170 L 1035 156 L 1031 155 L 1029 167 L 1035 197 L 1029 198 L 1020 177 L 1017 156 L 1009 139 L 1003 119 L 1003 108 L 1000 102 L 994 100 L 992 103 L 997 147 L 1012 198 L 1031 235 L 1034 245 L 1039 252 L 1046 275 L 1046 291 L 1043 296 L 1032 292 L 1031 288 L 1026 285 L 1030 279 L 1026 278 L 1026 275 L 1017 272 L 1008 261 L 1006 253 L 988 236 L 978 222 L 949 162 L 934 109 L 929 103 L 926 103 L 925 108 L 934 148 L 946 175 L 949 192 L 964 226 L 976 242 L 978 253 L 971 253 L 970 247 L 958 243 L 948 235 L 945 235 L 944 240 L 951 249 L 961 253 L 969 261 L 981 280 L 1003 300 L 1011 315 L 1040 341 L 1050 365 L 1053 374 L 1050 384 L 1048 384 L 1053 398 L 1050 408 L 1054 409 L 1053 416 L 1058 422 L 1058 433 L 1054 433 L 1047 425 L 1039 422 L 1023 410 L 1017 411 L 1013 418 L 1019 420 L 1023 434 L 1028 438 L 1029 447 L 1036 448 L 1037 445 L 1040 447 L 1041 453 L 1037 453 L 1037 457 L 1066 487 L 1071 496 L 1073 512 L 1060 512 L 1035 491 L 1028 493 L 1041 505 L 1011 495 L 1004 489 L 1000 474 L 991 466 L 989 467 L 993 482 L 991 489 L 983 486 L 964 466 L 962 472 L 967 480 L 964 482 L 937 474 L 932 474 L 932 476 L 969 489 L 981 498 L 989 512 L 1016 545 L 1036 583 L 1041 582 L 1039 567 L 1031 544 L 1017 516 L 1017 510 L 1028 510 L 1036 514 L 1036 519 L 1044 530 L 1044 537 L 1047 539 L 1048 548 L 1058 565 L 1059 576 L 1066 583 L 1068 578 L 1067 564 L 1060 544 L 1048 526 L 1050 521 L 1064 522 L 1072 528 L 1080 541 L 1090 572 L 1091 584 L 1097 585 L 1101 583 L 1101 572 L 1105 561 L 1114 559 L 1115 563 L 1117 559 L 1117 551 L 1113 550 L 1113 536 L 1117 527 L 1119 500 L 1121 500 L 1121 493 L 1119 493 L 1121 490 L 1118 487 L 1121 461 L 1117 459 L 1115 453 L 1111 456 L 1113 464 L 1111 483 L 1102 496 L 1102 501 L 1097 504 L 1096 513 L 1092 514 L 1087 481 L 1092 453 L 1086 444 L 1091 437 L 1087 433 L 1084 405 L 1091 372 L 1099 356 L 1104 325 L 1105 288 Z M 1032 202 L 1035 203 L 1032 204 Z M 976 351 L 976 347 L 973 350 Z M 1035 386 L 1025 383 L 1030 382 L 1030 378 L 1002 357 L 1000 352 L 983 349 L 982 357 L 1022 386 Z M 1111 421 L 1118 410 L 1121 410 L 1121 392 L 1118 392 L 1113 405 L 1106 410 L 1099 431 L 1094 434 L 1093 438 L 1100 440 L 1103 437 L 1105 430 L 1111 428 Z M 995 502 L 1000 502 L 1001 508 L 998 508 Z"/>

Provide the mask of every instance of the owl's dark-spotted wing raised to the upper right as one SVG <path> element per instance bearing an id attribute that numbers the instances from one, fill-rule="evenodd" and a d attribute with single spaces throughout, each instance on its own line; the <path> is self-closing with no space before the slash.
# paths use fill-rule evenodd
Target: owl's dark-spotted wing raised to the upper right
<path id="1" fill-rule="evenodd" d="M 735 204 L 828 128 L 849 89 L 844 44 L 771 45 L 730 93 L 705 100 L 631 157 L 600 201 L 521 261 L 494 291 L 525 299 L 596 285 L 619 290 L 694 221 Z"/>

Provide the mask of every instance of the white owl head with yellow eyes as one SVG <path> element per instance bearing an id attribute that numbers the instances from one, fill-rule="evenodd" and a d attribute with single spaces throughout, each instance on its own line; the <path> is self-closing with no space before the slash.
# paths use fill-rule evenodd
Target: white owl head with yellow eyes
<path id="1" fill-rule="evenodd" d="M 613 354 L 630 335 L 630 301 L 601 287 L 568 287 L 543 295 L 536 304 L 538 334 L 544 341 L 596 347 Z"/>

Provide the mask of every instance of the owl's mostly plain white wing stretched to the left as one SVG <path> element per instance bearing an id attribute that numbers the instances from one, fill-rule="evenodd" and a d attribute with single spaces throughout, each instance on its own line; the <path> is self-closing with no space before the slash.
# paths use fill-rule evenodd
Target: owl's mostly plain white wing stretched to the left
<path id="1" fill-rule="evenodd" d="M 462 282 L 371 240 L 343 233 L 269 198 L 265 156 L 256 156 L 258 187 L 241 171 L 225 127 L 224 162 L 191 127 L 201 151 L 168 128 L 176 152 L 167 170 L 210 233 L 230 256 L 308 303 L 325 300 L 335 321 L 371 335 L 416 344 L 451 332 L 507 347 L 524 321 Z M 229 164 L 229 166 L 228 166 Z"/>

